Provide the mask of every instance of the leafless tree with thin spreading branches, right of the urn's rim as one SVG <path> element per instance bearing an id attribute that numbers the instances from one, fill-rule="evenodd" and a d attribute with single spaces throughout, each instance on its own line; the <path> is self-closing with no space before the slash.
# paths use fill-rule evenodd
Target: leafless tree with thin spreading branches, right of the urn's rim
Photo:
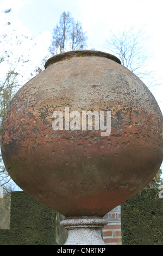
<path id="1" fill-rule="evenodd" d="M 104 47 L 109 52 L 120 58 L 123 66 L 134 72 L 140 78 L 148 78 L 152 75 L 146 70 L 150 56 L 146 53 L 145 36 L 143 29 L 134 31 L 132 27 L 115 34 L 110 33 L 109 39 L 105 41 Z"/>

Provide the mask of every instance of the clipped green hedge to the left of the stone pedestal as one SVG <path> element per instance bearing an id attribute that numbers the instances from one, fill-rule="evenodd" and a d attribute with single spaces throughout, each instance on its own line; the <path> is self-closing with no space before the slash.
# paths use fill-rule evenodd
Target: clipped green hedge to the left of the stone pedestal
<path id="1" fill-rule="evenodd" d="M 23 191 L 12 192 L 10 230 L 0 230 L 0 245 L 59 244 L 57 214 Z"/>

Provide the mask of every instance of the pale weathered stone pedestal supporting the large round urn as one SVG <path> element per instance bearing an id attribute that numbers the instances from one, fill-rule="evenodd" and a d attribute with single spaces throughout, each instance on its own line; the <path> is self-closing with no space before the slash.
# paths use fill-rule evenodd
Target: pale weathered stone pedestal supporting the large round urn
<path id="1" fill-rule="evenodd" d="M 65 245 L 105 245 L 101 230 L 107 223 L 102 217 L 74 217 L 61 221 L 68 230 Z"/>

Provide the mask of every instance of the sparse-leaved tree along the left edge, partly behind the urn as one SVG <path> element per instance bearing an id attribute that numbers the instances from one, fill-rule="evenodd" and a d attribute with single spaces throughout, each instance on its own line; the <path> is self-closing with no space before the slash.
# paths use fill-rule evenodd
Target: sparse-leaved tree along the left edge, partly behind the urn
<path id="1" fill-rule="evenodd" d="M 6 15 L 10 11 L 11 9 L 8 9 L 1 13 L 4 13 L 5 17 L 1 22 L 0 34 L 0 132 L 9 103 L 16 91 L 21 87 L 21 82 L 24 79 L 23 75 L 20 75 L 20 69 L 29 61 L 29 56 L 23 56 L 21 50 L 18 51 L 18 49 L 21 48 L 22 41 L 28 42 L 28 44 L 31 41 L 28 36 L 18 33 L 11 25 L 11 22 L 8 21 Z M 30 74 L 29 78 L 31 76 Z M 0 150 L 0 185 L 3 186 L 4 191 L 10 190 L 10 182 L 11 178 L 5 169 Z M 14 187 L 14 182 L 12 184 L 12 187 Z"/>

